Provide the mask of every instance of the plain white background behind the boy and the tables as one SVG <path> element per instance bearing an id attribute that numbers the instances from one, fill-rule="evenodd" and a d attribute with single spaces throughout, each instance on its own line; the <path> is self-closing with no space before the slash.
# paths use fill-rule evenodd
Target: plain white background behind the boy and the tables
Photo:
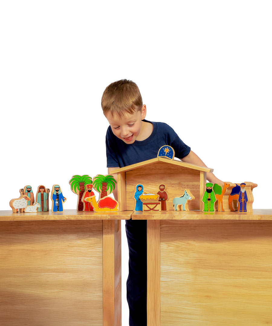
<path id="1" fill-rule="evenodd" d="M 40 184 L 59 184 L 64 209 L 76 208 L 72 175 L 107 174 L 101 96 L 122 78 L 139 86 L 148 120 L 172 126 L 219 179 L 257 183 L 253 208 L 271 208 L 271 7 L 2 1 L 0 209 Z"/>

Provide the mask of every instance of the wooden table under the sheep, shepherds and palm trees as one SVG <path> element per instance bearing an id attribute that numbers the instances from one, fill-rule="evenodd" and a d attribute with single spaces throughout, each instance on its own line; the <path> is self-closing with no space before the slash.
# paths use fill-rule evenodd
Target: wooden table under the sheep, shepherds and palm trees
<path id="1" fill-rule="evenodd" d="M 0 211 L 1 325 L 120 326 L 131 214 Z"/>

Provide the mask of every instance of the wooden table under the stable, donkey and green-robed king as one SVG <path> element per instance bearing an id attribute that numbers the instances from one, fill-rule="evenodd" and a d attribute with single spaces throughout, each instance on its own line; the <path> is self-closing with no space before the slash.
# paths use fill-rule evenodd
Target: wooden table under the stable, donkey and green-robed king
<path id="1" fill-rule="evenodd" d="M 148 326 L 272 324 L 272 210 L 147 219 Z"/>

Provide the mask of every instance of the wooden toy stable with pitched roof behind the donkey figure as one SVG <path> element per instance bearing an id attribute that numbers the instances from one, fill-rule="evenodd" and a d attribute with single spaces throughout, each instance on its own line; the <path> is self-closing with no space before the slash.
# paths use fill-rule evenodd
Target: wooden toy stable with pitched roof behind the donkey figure
<path id="1" fill-rule="evenodd" d="M 175 197 L 180 197 L 184 190 L 189 190 L 195 197 L 195 200 L 189 201 L 189 210 L 201 210 L 207 172 L 213 172 L 213 169 L 156 157 L 113 170 L 111 173 L 117 174 L 119 210 L 133 211 L 134 193 L 139 184 L 144 186 L 144 192 L 155 194 L 159 185 L 164 184 L 168 194 L 168 210 L 174 210 Z"/>

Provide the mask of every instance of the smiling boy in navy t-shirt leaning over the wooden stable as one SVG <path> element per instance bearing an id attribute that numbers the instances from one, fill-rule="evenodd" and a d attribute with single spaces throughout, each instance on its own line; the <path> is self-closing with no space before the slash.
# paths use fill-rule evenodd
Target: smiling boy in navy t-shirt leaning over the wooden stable
<path id="1" fill-rule="evenodd" d="M 146 106 L 136 83 L 126 79 L 111 83 L 103 93 L 101 106 L 110 124 L 106 133 L 108 174 L 117 168 L 157 157 L 158 150 L 164 145 L 173 147 L 175 157 L 182 161 L 206 166 L 170 126 L 145 120 Z M 207 173 L 207 180 L 223 184 L 213 173 Z M 117 199 L 117 187 L 114 197 Z M 126 220 L 126 234 L 129 325 L 146 326 L 146 221 Z"/>

